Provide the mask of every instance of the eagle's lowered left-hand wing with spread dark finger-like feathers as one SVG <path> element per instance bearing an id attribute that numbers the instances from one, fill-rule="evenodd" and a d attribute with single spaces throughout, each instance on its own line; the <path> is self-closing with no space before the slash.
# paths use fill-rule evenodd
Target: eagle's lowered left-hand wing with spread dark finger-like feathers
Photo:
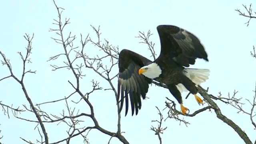
<path id="1" fill-rule="evenodd" d="M 120 94 L 120 112 L 124 106 L 125 101 L 125 116 L 128 113 L 129 99 L 132 109 L 132 116 L 134 111 L 136 115 L 138 110 L 141 108 L 141 98 L 146 98 L 149 84 L 152 82 L 151 79 L 146 78 L 144 75 L 139 75 L 138 70 L 145 66 L 145 64 L 151 63 L 152 61 L 147 58 L 132 52 L 130 50 L 122 50 L 119 54 L 119 75 L 118 75 L 118 96 L 119 101 Z M 124 100 L 125 99 L 125 100 Z"/>

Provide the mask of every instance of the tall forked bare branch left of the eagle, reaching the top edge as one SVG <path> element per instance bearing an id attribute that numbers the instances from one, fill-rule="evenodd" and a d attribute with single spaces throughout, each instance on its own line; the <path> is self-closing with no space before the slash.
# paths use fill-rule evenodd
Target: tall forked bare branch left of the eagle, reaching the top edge
<path id="1" fill-rule="evenodd" d="M 86 68 L 90 68 L 92 70 L 94 70 L 94 72 L 96 72 L 97 74 L 99 74 L 102 78 L 104 78 L 105 80 L 108 81 L 108 83 L 111 86 L 111 89 L 114 91 L 115 95 L 117 95 L 117 92 L 114 88 L 114 85 L 112 84 L 112 80 L 114 77 L 116 77 L 117 75 L 115 74 L 114 77 L 110 76 L 110 72 L 113 68 L 114 65 L 117 64 L 118 59 L 118 48 L 112 47 L 111 45 L 109 45 L 109 42 L 105 40 L 105 44 L 101 44 L 100 42 L 100 32 L 99 32 L 99 28 L 96 29 L 92 26 L 92 28 L 94 29 L 94 31 L 97 34 L 98 37 L 98 42 L 94 42 L 90 37 L 88 37 L 88 35 L 86 36 L 85 40 L 82 39 L 82 34 L 81 35 L 81 43 L 82 43 L 82 48 L 79 51 L 75 51 L 72 46 L 73 46 L 73 41 L 76 39 L 76 36 L 71 36 L 71 32 L 70 35 L 68 36 L 68 38 L 65 40 L 64 39 L 64 35 L 63 35 L 63 30 L 64 30 L 64 26 L 66 26 L 67 24 L 69 24 L 69 19 L 65 20 L 65 23 L 62 25 L 62 20 L 61 20 L 61 14 L 62 11 L 60 10 L 64 10 L 63 8 L 60 8 L 56 5 L 56 3 L 54 2 L 56 9 L 58 11 L 58 20 L 54 20 L 58 29 L 50 29 L 50 31 L 56 31 L 56 34 L 58 34 L 60 36 L 60 39 L 57 38 L 52 38 L 55 42 L 62 44 L 63 48 L 64 48 L 64 55 L 67 58 L 67 62 L 65 63 L 66 66 L 62 66 L 62 67 L 54 67 L 55 69 L 60 69 L 60 68 L 68 68 L 70 70 L 72 70 L 72 73 L 74 74 L 75 78 L 76 78 L 76 84 L 73 84 L 72 82 L 69 81 L 69 83 L 71 84 L 72 88 L 74 88 L 74 90 L 81 96 L 81 100 L 84 100 L 86 102 L 86 104 L 88 104 L 88 106 L 90 107 L 90 114 L 88 114 L 88 116 L 93 120 L 94 125 L 91 128 L 97 129 L 100 132 L 107 134 L 111 137 L 116 137 L 118 138 L 122 143 L 124 144 L 128 144 L 128 141 L 122 136 L 121 134 L 121 130 L 120 130 L 120 114 L 118 114 L 118 130 L 116 133 L 114 132 L 110 132 L 108 130 L 105 130 L 104 128 L 102 128 L 99 124 L 97 119 L 94 116 L 94 107 L 92 106 L 92 103 L 89 100 L 89 95 L 92 94 L 92 92 L 94 92 L 95 90 L 102 90 L 101 87 L 99 87 L 99 83 L 92 80 L 92 86 L 93 89 L 90 92 L 87 92 L 86 94 L 83 94 L 80 91 L 80 78 L 82 76 L 82 66 L 83 64 L 79 64 L 78 68 L 74 68 L 74 62 L 76 62 L 76 60 L 78 60 L 79 58 L 83 59 L 84 62 L 84 66 Z M 89 56 L 87 56 L 84 53 L 84 49 L 86 44 L 88 44 L 88 42 L 91 42 L 92 44 L 94 44 L 95 46 L 98 46 L 98 48 L 100 48 L 100 50 L 102 50 L 104 53 L 106 53 L 107 55 L 100 57 L 94 57 L 94 58 L 90 58 Z M 70 50 L 68 50 L 68 47 L 70 47 Z M 77 48 L 77 47 L 76 47 Z M 71 60 L 69 57 L 69 54 L 71 51 L 75 51 L 76 52 L 76 58 L 74 60 Z M 61 55 L 56 55 L 50 58 L 50 60 L 56 60 L 59 56 Z M 111 62 L 111 66 L 108 68 L 107 66 L 102 65 L 101 61 L 105 58 L 110 57 L 110 62 Z M 105 75 L 103 75 L 103 73 L 105 73 Z M 84 76 L 84 75 L 83 75 Z M 119 108 L 119 105 L 118 105 Z M 81 131 L 84 132 L 84 131 Z M 82 133 L 81 133 L 82 134 Z M 74 136 L 74 135 L 72 135 Z"/>

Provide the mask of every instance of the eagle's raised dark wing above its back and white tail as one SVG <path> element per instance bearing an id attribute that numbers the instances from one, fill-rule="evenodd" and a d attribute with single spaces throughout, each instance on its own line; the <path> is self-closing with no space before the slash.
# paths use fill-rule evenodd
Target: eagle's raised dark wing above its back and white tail
<path id="1" fill-rule="evenodd" d="M 171 25 L 157 27 L 161 42 L 161 56 L 169 57 L 181 66 L 195 64 L 196 58 L 208 61 L 208 55 L 200 40 L 192 33 Z"/>

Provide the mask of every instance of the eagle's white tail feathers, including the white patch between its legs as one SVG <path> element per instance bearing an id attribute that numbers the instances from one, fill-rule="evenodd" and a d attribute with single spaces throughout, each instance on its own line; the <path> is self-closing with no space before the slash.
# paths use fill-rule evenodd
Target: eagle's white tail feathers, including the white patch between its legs
<path id="1" fill-rule="evenodd" d="M 210 76 L 210 70 L 208 69 L 185 68 L 183 71 L 184 75 L 192 80 L 196 86 L 208 80 L 208 76 Z M 176 86 L 180 93 L 188 91 L 183 84 L 177 84 Z"/>

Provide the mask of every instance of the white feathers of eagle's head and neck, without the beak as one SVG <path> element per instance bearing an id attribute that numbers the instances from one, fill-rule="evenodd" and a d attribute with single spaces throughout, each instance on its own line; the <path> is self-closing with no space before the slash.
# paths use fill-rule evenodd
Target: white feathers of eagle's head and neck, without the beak
<path id="1" fill-rule="evenodd" d="M 160 74 L 162 74 L 162 70 L 161 70 L 160 66 L 158 66 L 158 64 L 155 62 L 153 62 L 145 67 L 147 67 L 148 70 L 146 70 L 146 72 L 144 73 L 144 76 L 146 76 L 148 78 L 151 78 L 151 79 L 158 78 L 160 76 Z"/>

